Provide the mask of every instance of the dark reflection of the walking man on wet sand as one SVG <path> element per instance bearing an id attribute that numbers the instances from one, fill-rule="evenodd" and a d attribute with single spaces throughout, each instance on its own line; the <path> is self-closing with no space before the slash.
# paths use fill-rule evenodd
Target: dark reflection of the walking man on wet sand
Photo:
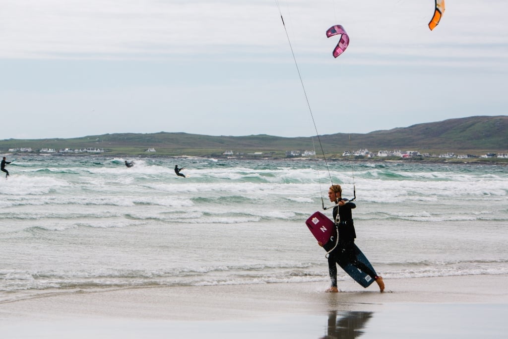
<path id="1" fill-rule="evenodd" d="M 327 335 L 320 339 L 358 338 L 364 333 L 361 329 L 373 314 L 373 312 L 339 312 L 337 315 L 337 311 L 331 311 L 328 315 Z"/>

